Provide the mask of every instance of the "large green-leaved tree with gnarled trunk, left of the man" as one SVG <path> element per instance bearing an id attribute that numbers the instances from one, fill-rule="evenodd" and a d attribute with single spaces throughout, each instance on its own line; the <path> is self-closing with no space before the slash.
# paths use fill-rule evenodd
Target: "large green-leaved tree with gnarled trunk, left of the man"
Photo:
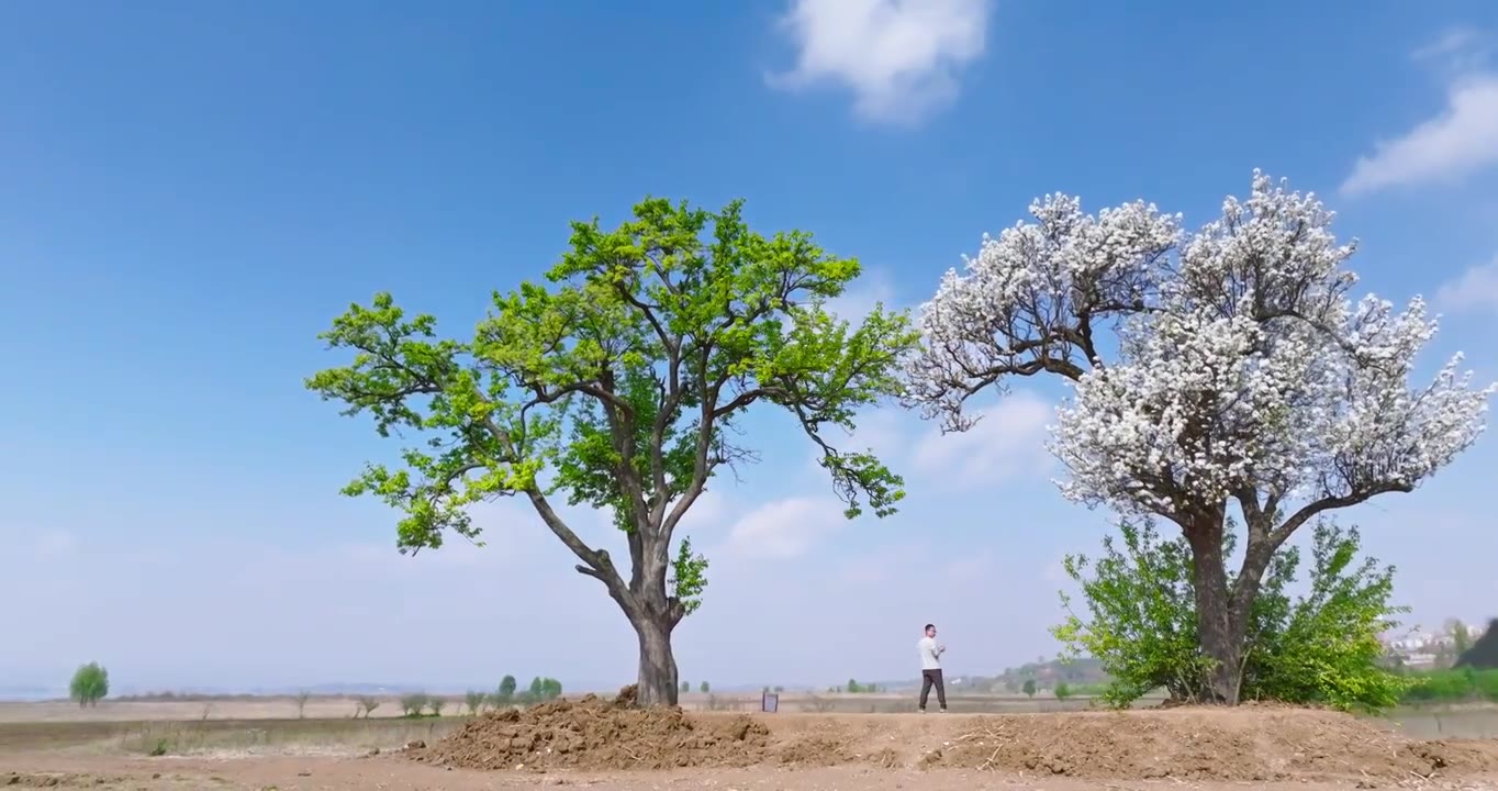
<path id="1" fill-rule="evenodd" d="M 828 313 L 858 273 L 809 234 L 750 231 L 737 201 L 646 199 L 613 231 L 572 223 L 547 285 L 496 294 L 467 340 L 437 340 L 434 318 L 406 318 L 388 294 L 352 306 L 321 336 L 351 363 L 307 387 L 370 413 L 380 436 L 422 437 L 345 488 L 403 512 L 400 550 L 479 541 L 469 506 L 521 497 L 634 626 L 640 703 L 674 704 L 671 634 L 707 584 L 707 559 L 676 530 L 718 472 L 753 458 L 736 431 L 746 410 L 795 419 L 849 517 L 903 497 L 878 458 L 825 436 L 902 390 L 897 361 L 917 340 L 903 313 L 876 307 L 858 327 Z M 557 494 L 608 508 L 628 560 L 584 542 Z"/>

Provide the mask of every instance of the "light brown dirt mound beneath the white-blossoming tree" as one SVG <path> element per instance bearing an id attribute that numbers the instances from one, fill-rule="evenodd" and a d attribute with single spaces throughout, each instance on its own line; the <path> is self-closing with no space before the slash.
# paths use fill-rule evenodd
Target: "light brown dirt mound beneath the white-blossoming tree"
<path id="1" fill-rule="evenodd" d="M 924 769 L 1109 779 L 1408 781 L 1491 772 L 1479 742 L 1410 742 L 1335 712 L 1278 707 L 1014 715 L 963 722 Z"/>

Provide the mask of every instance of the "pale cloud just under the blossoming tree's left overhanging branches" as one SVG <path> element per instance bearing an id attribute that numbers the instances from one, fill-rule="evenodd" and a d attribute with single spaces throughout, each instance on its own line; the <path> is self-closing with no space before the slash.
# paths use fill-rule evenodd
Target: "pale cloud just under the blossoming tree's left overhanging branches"
<path id="1" fill-rule="evenodd" d="M 1046 424 L 1055 407 L 1040 396 L 1016 391 L 987 407 L 966 431 L 932 430 L 915 448 L 921 472 L 960 488 L 989 485 L 1001 478 L 1044 472 Z"/>

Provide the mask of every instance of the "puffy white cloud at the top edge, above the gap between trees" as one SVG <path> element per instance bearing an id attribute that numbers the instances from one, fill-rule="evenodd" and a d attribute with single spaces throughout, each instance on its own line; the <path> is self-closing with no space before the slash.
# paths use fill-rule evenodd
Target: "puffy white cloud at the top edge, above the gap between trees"
<path id="1" fill-rule="evenodd" d="M 986 46 L 990 0 L 792 0 L 780 21 L 795 40 L 795 67 L 770 82 L 831 82 L 854 94 L 854 112 L 915 123 L 950 105 L 957 76 Z"/>

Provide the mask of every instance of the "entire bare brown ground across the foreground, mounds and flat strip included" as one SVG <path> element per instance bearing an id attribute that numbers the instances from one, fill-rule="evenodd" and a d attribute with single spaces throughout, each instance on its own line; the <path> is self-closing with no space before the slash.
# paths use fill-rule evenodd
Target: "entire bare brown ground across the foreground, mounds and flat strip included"
<path id="1" fill-rule="evenodd" d="M 739 715 L 584 698 L 475 718 L 407 749 L 159 758 L 6 751 L 0 787 L 780 791 L 1492 788 L 1498 740 L 1410 740 L 1278 707 L 1056 715 Z"/>

